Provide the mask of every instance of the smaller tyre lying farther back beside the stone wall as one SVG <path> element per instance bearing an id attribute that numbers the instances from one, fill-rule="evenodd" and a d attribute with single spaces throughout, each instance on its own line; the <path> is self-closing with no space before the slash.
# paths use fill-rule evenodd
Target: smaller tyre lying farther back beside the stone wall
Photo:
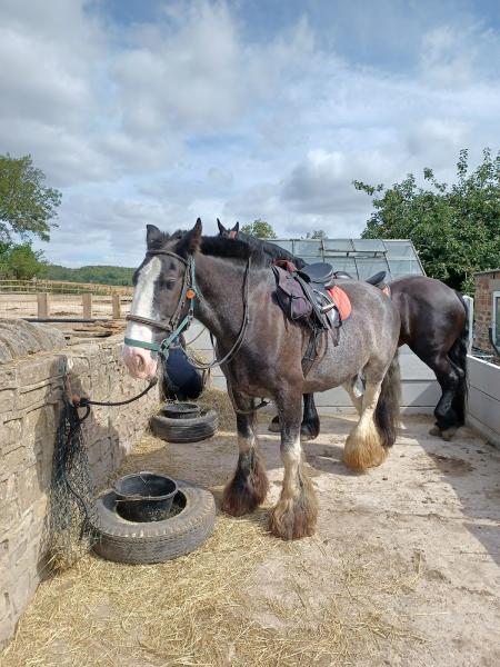
<path id="1" fill-rule="evenodd" d="M 201 410 L 196 404 L 167 404 L 151 417 L 150 426 L 156 436 L 168 442 L 197 442 L 217 432 L 219 419 L 216 410 Z"/>

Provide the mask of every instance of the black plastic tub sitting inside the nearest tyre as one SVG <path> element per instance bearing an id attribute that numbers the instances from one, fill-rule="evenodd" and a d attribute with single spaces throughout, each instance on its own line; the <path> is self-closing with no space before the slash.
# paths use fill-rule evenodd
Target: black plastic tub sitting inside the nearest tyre
<path id="1" fill-rule="evenodd" d="M 117 512 L 128 521 L 162 521 L 172 508 L 177 482 L 166 475 L 138 472 L 114 482 Z"/>

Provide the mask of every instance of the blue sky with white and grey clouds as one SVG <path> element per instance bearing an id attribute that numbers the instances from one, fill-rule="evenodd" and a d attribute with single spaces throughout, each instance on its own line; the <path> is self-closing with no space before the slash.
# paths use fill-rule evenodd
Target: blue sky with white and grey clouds
<path id="1" fill-rule="evenodd" d="M 498 150 L 499 33 L 497 1 L 0 0 L 0 152 L 62 191 L 67 266 L 198 216 L 359 236 L 352 179 Z"/>

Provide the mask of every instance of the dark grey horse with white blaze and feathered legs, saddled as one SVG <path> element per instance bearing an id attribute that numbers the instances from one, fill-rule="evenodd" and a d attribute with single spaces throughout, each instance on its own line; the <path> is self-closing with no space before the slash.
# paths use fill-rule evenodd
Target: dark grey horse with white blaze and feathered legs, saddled
<path id="1" fill-rule="evenodd" d="M 126 335 L 129 345 L 123 356 L 129 371 L 140 378 L 156 372 L 151 349 L 157 349 L 164 330 L 180 321 L 193 301 L 194 316 L 216 337 L 220 356 L 240 339 L 237 354 L 222 365 L 236 407 L 239 446 L 222 509 L 240 516 L 266 498 L 268 480 L 257 451 L 254 399 L 267 396 L 278 407 L 284 466 L 270 529 L 286 539 L 312 535 L 317 501 L 300 442 L 302 395 L 344 386 L 353 396 L 351 387 L 362 374 L 364 394 L 353 396 L 360 418 L 347 438 L 343 460 L 356 470 L 380 465 L 394 442 L 399 421 L 397 310 L 377 288 L 342 281 L 352 315 L 343 322 L 337 346 L 329 335 L 323 336 L 319 356 L 304 377 L 301 359 L 309 330 L 289 321 L 277 305 L 274 277 L 260 250 L 238 240 L 202 237 L 200 220 L 189 232 L 173 236 L 148 226 L 147 246 L 134 275 L 132 321 Z"/>

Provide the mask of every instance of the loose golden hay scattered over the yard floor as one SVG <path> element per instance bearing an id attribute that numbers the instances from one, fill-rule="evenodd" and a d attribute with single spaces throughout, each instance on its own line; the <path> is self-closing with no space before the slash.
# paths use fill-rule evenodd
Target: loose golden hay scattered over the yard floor
<path id="1" fill-rule="evenodd" d="M 209 397 L 230 408 L 224 392 L 210 390 Z M 171 471 L 164 445 L 148 435 L 119 474 L 138 465 Z M 201 548 L 154 566 L 84 556 L 39 587 L 0 661 L 331 667 L 393 641 L 422 640 L 396 613 L 397 598 L 418 587 L 420 560 L 389 565 L 387 552 L 378 560 L 369 545 L 339 554 L 338 545 L 319 537 L 284 542 L 267 526 L 267 508 L 241 519 L 219 515 Z"/>

